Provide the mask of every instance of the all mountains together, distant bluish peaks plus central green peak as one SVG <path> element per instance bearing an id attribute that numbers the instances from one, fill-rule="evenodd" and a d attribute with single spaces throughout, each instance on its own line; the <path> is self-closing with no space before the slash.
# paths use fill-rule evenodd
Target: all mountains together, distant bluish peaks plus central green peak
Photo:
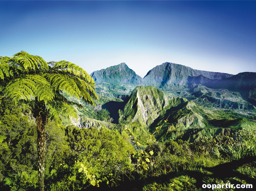
<path id="1" fill-rule="evenodd" d="M 95 108 L 84 104 L 85 110 L 78 112 L 80 126 L 106 126 L 124 137 L 129 128 L 142 145 L 158 126 L 155 138 L 162 142 L 218 139 L 256 126 L 256 73 L 233 75 L 166 62 L 141 78 L 121 63 L 94 71 L 91 77 L 100 100 Z M 97 120 L 100 109 L 109 112 L 110 121 Z"/>

